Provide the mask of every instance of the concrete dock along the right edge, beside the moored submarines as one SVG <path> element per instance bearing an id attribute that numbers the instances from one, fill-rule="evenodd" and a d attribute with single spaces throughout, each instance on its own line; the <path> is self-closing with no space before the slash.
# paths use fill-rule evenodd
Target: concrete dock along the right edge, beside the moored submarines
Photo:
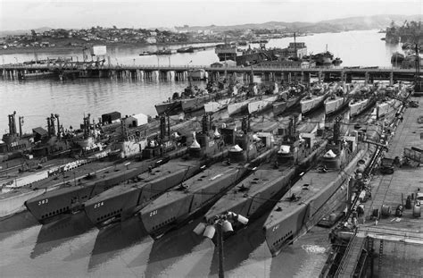
<path id="1" fill-rule="evenodd" d="M 418 122 L 423 101 L 419 97 L 411 100 L 419 102 L 419 107 L 405 110 L 385 157 L 402 157 L 404 147 L 423 149 L 423 124 Z M 373 176 L 370 185 L 371 198 L 364 203 L 365 221 L 359 223 L 336 276 L 423 277 L 423 218 L 405 207 L 407 196 L 414 197 L 414 206 L 416 193 L 423 192 L 423 164 L 402 164 L 393 174 Z M 404 206 L 401 217 L 395 215 L 398 205 Z M 382 206 L 387 206 L 385 214 L 378 219 L 372 216 L 374 209 L 381 212 Z M 386 213 L 388 207 L 390 214 Z M 362 263 L 366 261 L 363 257 L 368 257 L 367 263 Z"/>

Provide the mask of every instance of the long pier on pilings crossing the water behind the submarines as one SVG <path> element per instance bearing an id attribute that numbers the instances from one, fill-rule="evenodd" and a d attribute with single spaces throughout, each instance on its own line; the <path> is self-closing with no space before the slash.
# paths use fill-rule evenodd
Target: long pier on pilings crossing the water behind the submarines
<path id="1" fill-rule="evenodd" d="M 394 83 L 398 80 L 415 80 L 415 69 L 394 69 L 391 67 L 280 67 L 259 66 L 251 67 L 211 67 L 210 65 L 113 65 L 101 62 L 63 62 L 63 63 L 32 63 L 32 64 L 5 64 L 2 68 L 4 79 L 25 79 L 31 73 L 55 72 L 57 76 L 66 76 L 71 72 L 73 77 L 103 77 L 137 80 L 186 80 L 188 72 L 204 71 L 205 77 L 215 80 L 225 74 L 241 76 L 245 81 L 251 81 L 252 75 L 261 76 L 262 80 L 299 81 L 307 83 L 311 78 L 319 80 L 365 80 L 372 83 L 374 80 L 389 80 Z M 419 73 L 422 75 L 422 73 Z"/>

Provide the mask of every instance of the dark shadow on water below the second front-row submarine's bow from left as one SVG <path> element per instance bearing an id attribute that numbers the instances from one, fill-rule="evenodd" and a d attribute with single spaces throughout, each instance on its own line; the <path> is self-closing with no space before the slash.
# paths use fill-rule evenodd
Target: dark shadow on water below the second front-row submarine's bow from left
<path id="1" fill-rule="evenodd" d="M 88 271 L 95 271 L 120 252 L 133 245 L 139 244 L 147 237 L 144 226 L 138 217 L 131 217 L 121 223 L 114 223 L 98 232 L 94 249 L 88 262 Z"/>

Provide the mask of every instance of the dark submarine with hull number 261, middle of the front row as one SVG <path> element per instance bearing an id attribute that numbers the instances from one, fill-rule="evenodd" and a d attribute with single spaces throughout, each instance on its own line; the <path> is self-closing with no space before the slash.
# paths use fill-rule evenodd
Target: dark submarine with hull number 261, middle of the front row
<path id="1" fill-rule="evenodd" d="M 270 134 L 258 143 L 253 140 L 251 133 L 246 129 L 243 131 L 231 139 L 234 147 L 228 151 L 228 162 L 211 165 L 140 211 L 145 230 L 153 239 L 160 238 L 162 234 L 206 211 L 274 151 L 273 147 L 263 145 L 267 142 L 271 144 Z M 251 164 L 245 164 L 247 161 L 251 161 Z"/>

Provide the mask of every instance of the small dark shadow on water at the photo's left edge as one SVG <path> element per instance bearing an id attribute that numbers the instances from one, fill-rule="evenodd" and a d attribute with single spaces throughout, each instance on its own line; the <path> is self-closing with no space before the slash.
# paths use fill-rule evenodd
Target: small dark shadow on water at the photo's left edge
<path id="1" fill-rule="evenodd" d="M 0 241 L 37 225 L 38 222 L 28 210 L 0 220 Z"/>

